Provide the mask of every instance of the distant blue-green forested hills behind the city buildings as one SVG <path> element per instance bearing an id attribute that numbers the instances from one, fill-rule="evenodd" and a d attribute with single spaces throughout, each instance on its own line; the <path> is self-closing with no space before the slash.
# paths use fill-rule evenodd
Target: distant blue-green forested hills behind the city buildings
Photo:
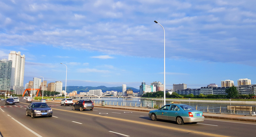
<path id="1" fill-rule="evenodd" d="M 126 87 L 126 89 L 132 89 L 133 92 L 140 92 L 139 89 L 133 88 L 133 87 Z M 67 92 L 72 92 L 72 91 L 77 91 L 77 93 L 79 94 L 80 92 L 88 92 L 89 90 L 95 90 L 95 89 L 101 89 L 102 92 L 106 92 L 106 91 L 112 91 L 112 90 L 116 90 L 117 92 L 122 92 L 122 86 L 120 87 L 106 87 L 106 86 L 98 86 L 98 87 L 91 87 L 91 86 L 87 86 L 87 87 L 83 87 L 83 86 L 67 86 Z M 65 90 L 65 87 L 62 87 L 62 90 Z"/>

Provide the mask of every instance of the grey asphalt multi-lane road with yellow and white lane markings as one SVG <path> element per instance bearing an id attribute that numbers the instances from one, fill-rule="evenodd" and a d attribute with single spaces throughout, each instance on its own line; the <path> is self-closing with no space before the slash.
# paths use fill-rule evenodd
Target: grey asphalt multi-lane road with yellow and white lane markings
<path id="1" fill-rule="evenodd" d="M 26 116 L 29 103 L 16 105 L 0 101 L 1 136 L 255 136 L 255 122 L 205 118 L 198 124 L 157 120 L 148 113 L 94 107 L 93 111 L 72 110 L 72 106 L 47 103 L 52 117 Z"/>

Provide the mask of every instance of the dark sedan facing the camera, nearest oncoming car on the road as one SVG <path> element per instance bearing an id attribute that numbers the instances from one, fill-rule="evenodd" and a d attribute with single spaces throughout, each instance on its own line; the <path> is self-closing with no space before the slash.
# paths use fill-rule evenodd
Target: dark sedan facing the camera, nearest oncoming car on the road
<path id="1" fill-rule="evenodd" d="M 51 106 L 48 106 L 44 102 L 33 102 L 30 103 L 26 109 L 26 116 L 31 116 L 31 118 L 35 118 L 38 116 L 49 116 L 52 117 L 52 109 Z"/>

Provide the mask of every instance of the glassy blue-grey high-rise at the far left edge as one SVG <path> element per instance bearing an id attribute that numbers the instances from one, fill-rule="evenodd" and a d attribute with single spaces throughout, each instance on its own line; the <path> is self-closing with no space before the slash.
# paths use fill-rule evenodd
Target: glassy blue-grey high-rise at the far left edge
<path id="1" fill-rule="evenodd" d="M 12 77 L 12 61 L 7 59 L 0 60 L 0 85 L 1 85 L 0 91 L 10 90 L 11 77 Z"/>

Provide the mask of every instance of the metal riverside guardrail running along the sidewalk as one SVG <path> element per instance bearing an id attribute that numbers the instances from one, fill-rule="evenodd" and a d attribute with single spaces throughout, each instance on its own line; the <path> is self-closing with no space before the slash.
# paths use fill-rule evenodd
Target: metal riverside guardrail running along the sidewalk
<path id="1" fill-rule="evenodd" d="M 94 104 L 113 105 L 113 106 L 130 106 L 130 107 L 146 107 L 146 108 L 161 108 L 164 106 L 162 102 L 142 102 L 142 101 L 111 101 L 111 100 L 92 100 Z M 256 106 L 248 105 L 215 105 L 215 104 L 189 104 L 183 103 L 194 107 L 202 112 L 211 113 L 225 113 L 225 114 L 239 114 L 239 115 L 255 115 Z"/>

